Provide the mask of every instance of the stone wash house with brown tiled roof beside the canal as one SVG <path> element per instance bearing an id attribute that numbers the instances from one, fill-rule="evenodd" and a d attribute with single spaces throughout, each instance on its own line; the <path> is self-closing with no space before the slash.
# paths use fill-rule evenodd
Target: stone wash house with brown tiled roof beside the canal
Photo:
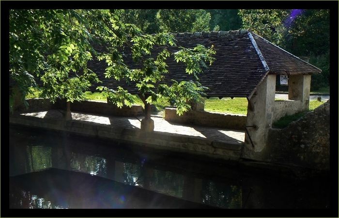
<path id="1" fill-rule="evenodd" d="M 261 151 L 266 145 L 267 133 L 272 123 L 282 116 L 308 110 L 311 74 L 321 73 L 321 70 L 252 31 L 242 29 L 226 32 L 177 33 L 175 38 L 177 46 L 214 45 L 216 60 L 199 75 L 201 85 L 209 88 L 206 91 L 207 97 L 247 98 L 247 116 L 243 120 L 239 120 L 242 117 L 231 115 L 223 116 L 222 119 L 230 129 L 247 130 L 244 158 L 261 160 Z M 100 51 L 104 47 L 96 46 L 96 49 Z M 176 49 L 177 47 L 170 48 L 171 51 Z M 129 49 L 124 48 L 124 55 L 125 62 L 129 66 L 140 67 L 133 62 Z M 169 73 L 166 74 L 165 81 L 194 80 L 193 76 L 185 73 L 184 64 L 177 63 L 173 58 L 169 58 L 167 63 Z M 133 84 L 127 86 L 125 81 L 105 78 L 105 62 L 93 60 L 89 62 L 89 68 L 98 73 L 103 81 L 102 85 L 113 89 L 121 86 L 131 93 L 137 93 Z M 275 101 L 276 80 L 279 79 L 279 75 L 288 76 L 289 100 L 287 101 Z M 93 86 L 94 90 L 95 86 Z M 204 123 L 204 116 L 208 116 L 208 120 L 213 120 L 207 112 L 201 113 L 203 105 L 196 104 L 193 108 L 200 111 L 198 116 L 194 116 L 195 112 L 190 112 L 181 119 L 191 117 L 190 120 L 188 119 L 191 123 L 192 119 L 200 119 L 197 124 Z M 165 119 L 175 121 L 171 117 L 173 114 L 170 113 L 170 109 L 167 109 Z M 220 119 L 217 117 L 215 120 Z"/>

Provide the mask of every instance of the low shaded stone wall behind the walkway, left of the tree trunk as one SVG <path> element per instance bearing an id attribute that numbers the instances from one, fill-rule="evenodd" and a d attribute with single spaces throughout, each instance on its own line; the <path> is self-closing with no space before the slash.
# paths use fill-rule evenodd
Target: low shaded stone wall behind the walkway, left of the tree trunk
<path id="1" fill-rule="evenodd" d="M 66 101 L 57 101 L 55 104 L 48 99 L 28 99 L 29 108 L 23 106 L 19 108 L 20 112 L 30 112 L 48 109 L 66 109 Z M 143 109 L 140 105 L 133 105 L 132 107 L 123 106 L 118 108 L 116 105 L 107 102 L 98 101 L 81 101 L 71 103 L 71 111 L 84 112 L 84 113 L 100 113 L 102 115 L 110 116 L 141 116 Z"/>

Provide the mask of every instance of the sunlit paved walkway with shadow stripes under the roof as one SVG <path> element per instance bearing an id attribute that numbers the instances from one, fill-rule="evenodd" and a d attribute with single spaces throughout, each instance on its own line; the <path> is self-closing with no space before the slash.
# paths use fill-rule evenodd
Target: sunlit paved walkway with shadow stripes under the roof
<path id="1" fill-rule="evenodd" d="M 58 110 L 40 111 L 35 113 L 21 114 L 24 116 L 35 116 L 39 118 L 62 119 L 63 115 Z M 72 112 L 72 119 L 110 125 L 117 128 L 140 129 L 140 117 L 101 116 L 95 114 L 84 114 Z M 161 117 L 152 117 L 154 120 L 154 131 L 168 132 L 173 134 L 198 136 L 210 140 L 227 142 L 230 144 L 241 144 L 245 141 L 244 131 L 234 131 L 220 128 L 188 126 L 170 123 Z"/>

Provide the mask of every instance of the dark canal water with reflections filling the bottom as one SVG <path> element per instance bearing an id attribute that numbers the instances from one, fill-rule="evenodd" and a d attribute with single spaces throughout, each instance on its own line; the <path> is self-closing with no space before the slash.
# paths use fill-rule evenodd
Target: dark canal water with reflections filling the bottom
<path id="1" fill-rule="evenodd" d="M 10 208 L 328 208 L 328 178 L 10 126 Z"/>

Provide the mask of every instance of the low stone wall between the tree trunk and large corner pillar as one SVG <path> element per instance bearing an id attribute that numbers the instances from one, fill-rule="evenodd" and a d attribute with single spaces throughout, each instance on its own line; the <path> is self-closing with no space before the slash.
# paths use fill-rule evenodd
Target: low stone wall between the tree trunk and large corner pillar
<path id="1" fill-rule="evenodd" d="M 206 111 L 189 111 L 182 116 L 176 114 L 175 108 L 165 108 L 165 120 L 174 123 L 194 124 L 232 130 L 245 130 L 246 116 L 227 115 Z"/>

